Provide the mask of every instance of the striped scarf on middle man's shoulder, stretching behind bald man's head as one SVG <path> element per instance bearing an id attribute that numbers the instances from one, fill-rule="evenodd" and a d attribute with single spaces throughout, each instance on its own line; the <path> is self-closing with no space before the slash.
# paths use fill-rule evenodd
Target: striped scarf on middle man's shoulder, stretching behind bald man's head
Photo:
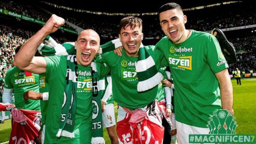
<path id="1" fill-rule="evenodd" d="M 104 45 L 101 45 L 100 54 L 104 52 L 112 51 L 120 46 L 122 46 L 120 39 L 119 38 L 114 39 Z M 46 51 L 46 49 L 47 47 L 45 48 L 43 46 L 42 48 L 40 48 L 39 51 L 43 51 L 43 50 Z M 73 49 L 74 49 L 74 46 L 73 46 Z M 54 48 L 54 50 L 55 50 L 54 51 L 55 53 L 60 53 L 60 51 L 61 52 L 65 51 L 63 48 L 61 50 L 60 48 Z M 68 50 L 66 50 L 66 52 L 68 53 Z M 139 49 L 139 59 L 135 66 L 136 66 L 136 71 L 137 71 L 138 80 L 139 80 L 139 83 L 137 86 L 138 92 L 146 91 L 155 87 L 163 79 L 162 74 L 158 72 L 155 66 L 154 59 L 152 58 L 150 53 L 147 51 L 147 49 L 143 45 Z"/>

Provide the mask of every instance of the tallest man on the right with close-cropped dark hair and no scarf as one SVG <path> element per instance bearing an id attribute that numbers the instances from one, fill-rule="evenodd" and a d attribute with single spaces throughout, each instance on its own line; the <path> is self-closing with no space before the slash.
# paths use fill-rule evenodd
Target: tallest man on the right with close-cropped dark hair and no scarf
<path id="1" fill-rule="evenodd" d="M 185 28 L 187 17 L 179 4 L 161 6 L 159 20 L 166 37 L 156 47 L 173 75 L 178 142 L 184 144 L 189 134 L 209 133 L 206 125 L 215 110 L 233 113 L 228 64 L 213 35 Z"/>

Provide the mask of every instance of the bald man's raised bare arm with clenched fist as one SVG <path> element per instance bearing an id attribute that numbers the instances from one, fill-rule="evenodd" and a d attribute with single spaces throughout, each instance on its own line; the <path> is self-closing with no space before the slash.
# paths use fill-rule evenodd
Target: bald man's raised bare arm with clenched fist
<path id="1" fill-rule="evenodd" d="M 28 41 L 20 48 L 19 52 L 14 57 L 14 65 L 21 70 L 35 74 L 45 73 L 45 59 L 43 57 L 34 57 L 34 54 L 45 37 L 50 33 L 57 31 L 59 27 L 64 25 L 64 23 L 65 20 L 63 18 L 52 15 L 45 23 L 44 27 L 29 38 Z"/>

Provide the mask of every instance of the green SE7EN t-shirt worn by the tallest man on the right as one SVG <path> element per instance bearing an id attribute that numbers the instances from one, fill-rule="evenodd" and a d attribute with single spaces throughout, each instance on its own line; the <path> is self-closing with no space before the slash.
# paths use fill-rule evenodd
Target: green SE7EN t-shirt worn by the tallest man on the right
<path id="1" fill-rule="evenodd" d="M 175 118 L 178 122 L 207 128 L 214 110 L 221 109 L 218 80 L 214 74 L 228 64 L 217 39 L 191 30 L 189 38 L 173 44 L 163 37 L 156 45 L 167 59 L 175 85 Z"/>

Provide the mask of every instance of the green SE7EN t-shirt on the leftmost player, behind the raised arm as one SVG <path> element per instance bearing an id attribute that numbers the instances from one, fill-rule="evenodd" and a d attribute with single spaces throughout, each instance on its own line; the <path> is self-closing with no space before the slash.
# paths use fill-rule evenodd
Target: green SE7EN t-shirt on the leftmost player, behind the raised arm
<path id="1" fill-rule="evenodd" d="M 24 93 L 29 90 L 39 92 L 38 78 L 37 74 L 27 77 L 25 71 L 18 69 L 16 66 L 7 71 L 4 88 L 13 89 L 17 109 L 40 111 L 40 100 L 28 99 L 25 102 L 23 98 Z"/>

